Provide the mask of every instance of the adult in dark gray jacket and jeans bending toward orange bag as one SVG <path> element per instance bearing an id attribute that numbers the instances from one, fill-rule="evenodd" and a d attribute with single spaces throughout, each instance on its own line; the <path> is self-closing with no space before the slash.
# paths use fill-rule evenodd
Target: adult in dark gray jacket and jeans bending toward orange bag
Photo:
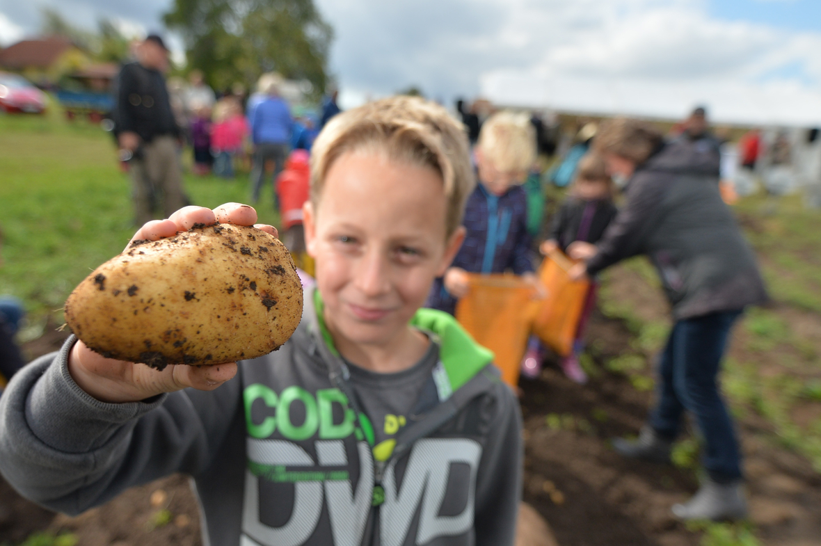
<path id="1" fill-rule="evenodd" d="M 626 203 L 598 245 L 575 243 L 586 260 L 571 274 L 594 275 L 621 259 L 647 255 L 661 278 L 675 323 L 664 349 L 658 403 L 636 441 L 616 440 L 626 457 L 669 461 L 684 411 L 704 435 L 707 479 L 681 519 L 746 514 L 741 454 L 716 377 L 732 323 L 767 299 L 755 257 L 718 190 L 718 155 L 698 140 L 664 145 L 633 120 L 613 120 L 594 141 L 613 173 L 631 177 Z"/>

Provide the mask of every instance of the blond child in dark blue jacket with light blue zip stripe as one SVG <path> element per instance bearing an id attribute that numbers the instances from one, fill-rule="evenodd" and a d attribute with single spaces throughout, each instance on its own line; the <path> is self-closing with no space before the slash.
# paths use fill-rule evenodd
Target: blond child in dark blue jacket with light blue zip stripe
<path id="1" fill-rule="evenodd" d="M 466 273 L 512 269 L 536 283 L 530 260 L 527 195 L 519 186 L 536 158 L 530 118 L 498 112 L 484 122 L 476 146 L 479 184 L 467 200 L 465 243 L 442 278 L 433 282 L 427 305 L 454 314 L 470 289 Z"/>

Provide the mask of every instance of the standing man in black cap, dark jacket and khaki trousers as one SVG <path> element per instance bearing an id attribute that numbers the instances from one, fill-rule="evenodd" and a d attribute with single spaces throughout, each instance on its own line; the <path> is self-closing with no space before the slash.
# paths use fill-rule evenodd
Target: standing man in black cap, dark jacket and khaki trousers
<path id="1" fill-rule="evenodd" d="M 168 49 L 160 36 L 149 34 L 137 46 L 136 57 L 117 76 L 114 116 L 121 158 L 129 163 L 134 185 L 135 223 L 141 226 L 154 218 L 155 210 L 168 218 L 188 199 L 177 154 L 181 131 L 163 76 Z"/>

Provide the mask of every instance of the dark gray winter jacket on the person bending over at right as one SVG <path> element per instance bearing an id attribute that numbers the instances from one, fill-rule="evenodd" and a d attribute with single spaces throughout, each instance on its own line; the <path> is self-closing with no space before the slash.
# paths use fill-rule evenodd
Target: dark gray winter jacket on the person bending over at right
<path id="1" fill-rule="evenodd" d="M 755 255 L 719 192 L 718 161 L 708 141 L 680 139 L 640 165 L 587 272 L 648 255 L 677 320 L 764 303 Z"/>

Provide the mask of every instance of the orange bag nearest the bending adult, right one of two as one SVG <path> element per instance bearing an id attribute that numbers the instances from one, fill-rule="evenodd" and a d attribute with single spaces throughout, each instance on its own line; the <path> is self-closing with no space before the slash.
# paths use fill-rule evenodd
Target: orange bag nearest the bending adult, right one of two
<path id="1" fill-rule="evenodd" d="M 539 281 L 547 296 L 539 301 L 533 333 L 559 356 L 567 356 L 573 350 L 590 287 L 588 280 L 573 281 L 567 274 L 575 263 L 561 250 L 555 250 L 545 256 L 539 268 Z"/>

